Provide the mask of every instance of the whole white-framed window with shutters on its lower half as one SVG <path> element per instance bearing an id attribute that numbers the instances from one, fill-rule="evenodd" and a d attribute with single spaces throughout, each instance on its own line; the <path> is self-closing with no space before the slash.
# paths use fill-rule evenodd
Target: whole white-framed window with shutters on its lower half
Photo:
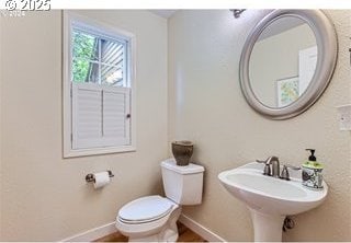
<path id="1" fill-rule="evenodd" d="M 135 150 L 134 37 L 65 11 L 64 157 Z"/>

